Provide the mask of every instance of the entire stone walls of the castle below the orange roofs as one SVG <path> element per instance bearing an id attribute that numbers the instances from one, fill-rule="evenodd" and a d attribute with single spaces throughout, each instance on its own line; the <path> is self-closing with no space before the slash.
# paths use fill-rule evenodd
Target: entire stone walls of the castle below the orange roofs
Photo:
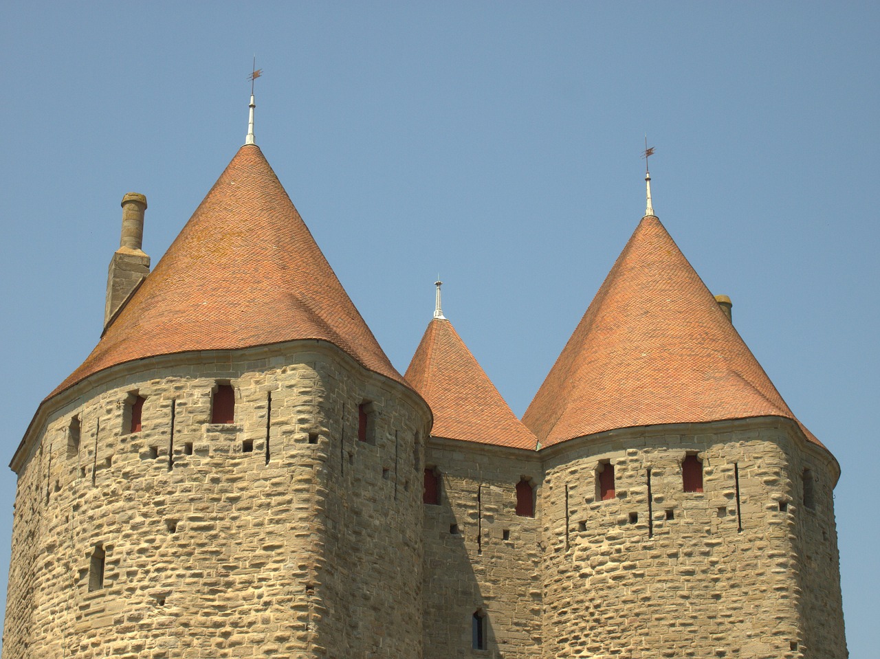
<path id="1" fill-rule="evenodd" d="M 235 420 L 212 423 L 227 383 Z M 157 357 L 50 403 L 13 461 L 4 659 L 847 656 L 838 467 L 788 420 L 426 442 L 421 399 L 312 342 Z"/>

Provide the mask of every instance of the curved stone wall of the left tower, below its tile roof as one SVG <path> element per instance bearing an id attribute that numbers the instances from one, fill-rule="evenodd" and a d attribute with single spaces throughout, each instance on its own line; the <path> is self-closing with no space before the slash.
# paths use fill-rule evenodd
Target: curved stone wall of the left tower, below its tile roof
<path id="1" fill-rule="evenodd" d="M 217 383 L 231 424 L 210 422 Z M 375 445 L 357 442 L 366 400 Z M 136 362 L 47 405 L 18 469 L 4 659 L 355 657 L 378 638 L 421 656 L 421 627 L 393 624 L 419 609 L 421 561 L 386 549 L 420 551 L 414 461 L 394 460 L 429 422 L 412 392 L 303 342 Z"/>

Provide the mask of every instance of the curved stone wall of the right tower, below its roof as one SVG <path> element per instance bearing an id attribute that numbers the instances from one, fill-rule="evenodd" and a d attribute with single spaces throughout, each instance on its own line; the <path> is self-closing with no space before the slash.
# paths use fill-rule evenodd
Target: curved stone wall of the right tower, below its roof
<path id="1" fill-rule="evenodd" d="M 760 418 L 625 429 L 548 450 L 544 656 L 846 657 L 842 619 L 817 628 L 811 607 L 821 604 L 801 597 L 840 592 L 833 560 L 803 569 L 803 546 L 818 542 L 798 506 L 805 445 L 793 422 Z M 688 453 L 702 460 L 701 493 L 684 491 Z M 596 486 L 604 461 L 615 476 L 608 501 Z M 831 528 L 835 470 L 822 465 L 814 492 Z M 836 558 L 832 532 L 813 553 Z"/>

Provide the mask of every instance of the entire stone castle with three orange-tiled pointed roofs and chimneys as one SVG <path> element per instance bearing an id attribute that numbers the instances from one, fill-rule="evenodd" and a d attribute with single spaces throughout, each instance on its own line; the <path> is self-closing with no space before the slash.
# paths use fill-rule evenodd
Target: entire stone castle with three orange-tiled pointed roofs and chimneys
<path id="1" fill-rule="evenodd" d="M 847 656 L 832 488 L 650 203 L 522 421 L 394 369 L 253 139 L 38 407 L 3 659 Z"/>

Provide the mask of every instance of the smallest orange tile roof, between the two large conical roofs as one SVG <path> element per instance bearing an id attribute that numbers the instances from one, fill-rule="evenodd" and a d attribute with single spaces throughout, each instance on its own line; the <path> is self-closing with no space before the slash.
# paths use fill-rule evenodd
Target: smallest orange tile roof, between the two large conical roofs
<path id="1" fill-rule="evenodd" d="M 431 320 L 404 377 L 428 401 L 432 436 L 535 448 L 535 436 L 504 402 L 449 320 Z"/>

